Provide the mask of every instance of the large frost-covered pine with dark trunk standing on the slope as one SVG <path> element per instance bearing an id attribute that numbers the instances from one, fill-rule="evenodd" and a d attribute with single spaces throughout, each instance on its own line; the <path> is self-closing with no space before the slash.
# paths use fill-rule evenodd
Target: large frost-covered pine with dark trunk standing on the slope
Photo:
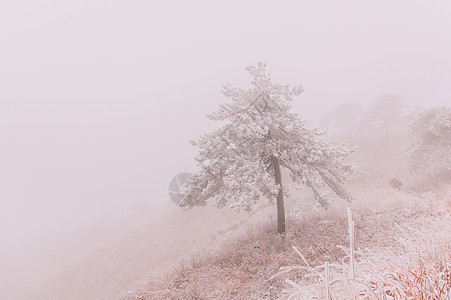
<path id="1" fill-rule="evenodd" d="M 233 209 L 249 211 L 265 196 L 277 200 L 278 232 L 284 233 L 281 167 L 294 182 L 310 187 L 322 204 L 327 203 L 324 187 L 350 201 L 344 187 L 352 171 L 344 162 L 350 150 L 319 139 L 319 130 L 305 128 L 290 112 L 302 86 L 272 83 L 265 67 L 259 63 L 247 68 L 253 76 L 250 89 L 224 87 L 224 95 L 232 101 L 208 116 L 224 125 L 192 142 L 199 148 L 196 160 L 201 170 L 182 188 L 179 205 L 206 205 L 212 198 L 218 207 L 230 202 Z"/>

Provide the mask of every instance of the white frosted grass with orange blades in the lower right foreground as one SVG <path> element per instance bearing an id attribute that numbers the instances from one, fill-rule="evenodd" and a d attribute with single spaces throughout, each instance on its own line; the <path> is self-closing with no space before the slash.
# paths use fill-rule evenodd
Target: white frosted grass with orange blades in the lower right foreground
<path id="1" fill-rule="evenodd" d="M 427 199 L 425 199 L 427 200 Z M 297 282 L 282 298 L 287 299 L 450 299 L 451 298 L 451 215 L 448 201 L 435 199 L 435 210 L 417 225 L 421 230 L 401 227 L 396 243 L 386 249 L 358 249 L 355 259 L 349 247 L 340 263 L 311 267 L 282 267 L 278 274 L 303 270 Z M 350 235 L 351 240 L 351 235 Z M 303 258 L 302 253 L 295 249 Z M 351 272 L 351 262 L 355 274 Z M 276 274 L 276 276 L 278 275 Z M 326 275 L 327 274 L 327 275 Z"/>

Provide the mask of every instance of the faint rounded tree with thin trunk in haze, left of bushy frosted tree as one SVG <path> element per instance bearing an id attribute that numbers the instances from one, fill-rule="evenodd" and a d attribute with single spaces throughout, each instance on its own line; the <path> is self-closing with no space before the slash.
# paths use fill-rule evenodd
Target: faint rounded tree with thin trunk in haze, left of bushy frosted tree
<path id="1" fill-rule="evenodd" d="M 388 140 L 389 128 L 402 122 L 405 108 L 405 102 L 399 96 L 383 95 L 368 108 L 361 127 L 363 130 L 384 128 L 385 140 Z"/>

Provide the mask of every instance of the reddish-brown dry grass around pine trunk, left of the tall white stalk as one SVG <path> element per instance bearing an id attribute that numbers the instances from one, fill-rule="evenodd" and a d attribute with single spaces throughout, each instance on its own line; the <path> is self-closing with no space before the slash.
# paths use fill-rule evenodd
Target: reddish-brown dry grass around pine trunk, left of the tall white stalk
<path id="1" fill-rule="evenodd" d="M 283 279 L 269 278 L 281 266 L 298 262 L 291 245 L 299 245 L 312 264 L 339 258 L 336 245 L 346 240 L 346 220 L 331 223 L 324 216 L 290 220 L 291 232 L 286 237 L 274 232 L 273 222 L 262 223 L 247 229 L 244 236 L 220 251 L 199 253 L 190 263 L 151 282 L 145 292 L 130 299 L 276 299 Z"/>

